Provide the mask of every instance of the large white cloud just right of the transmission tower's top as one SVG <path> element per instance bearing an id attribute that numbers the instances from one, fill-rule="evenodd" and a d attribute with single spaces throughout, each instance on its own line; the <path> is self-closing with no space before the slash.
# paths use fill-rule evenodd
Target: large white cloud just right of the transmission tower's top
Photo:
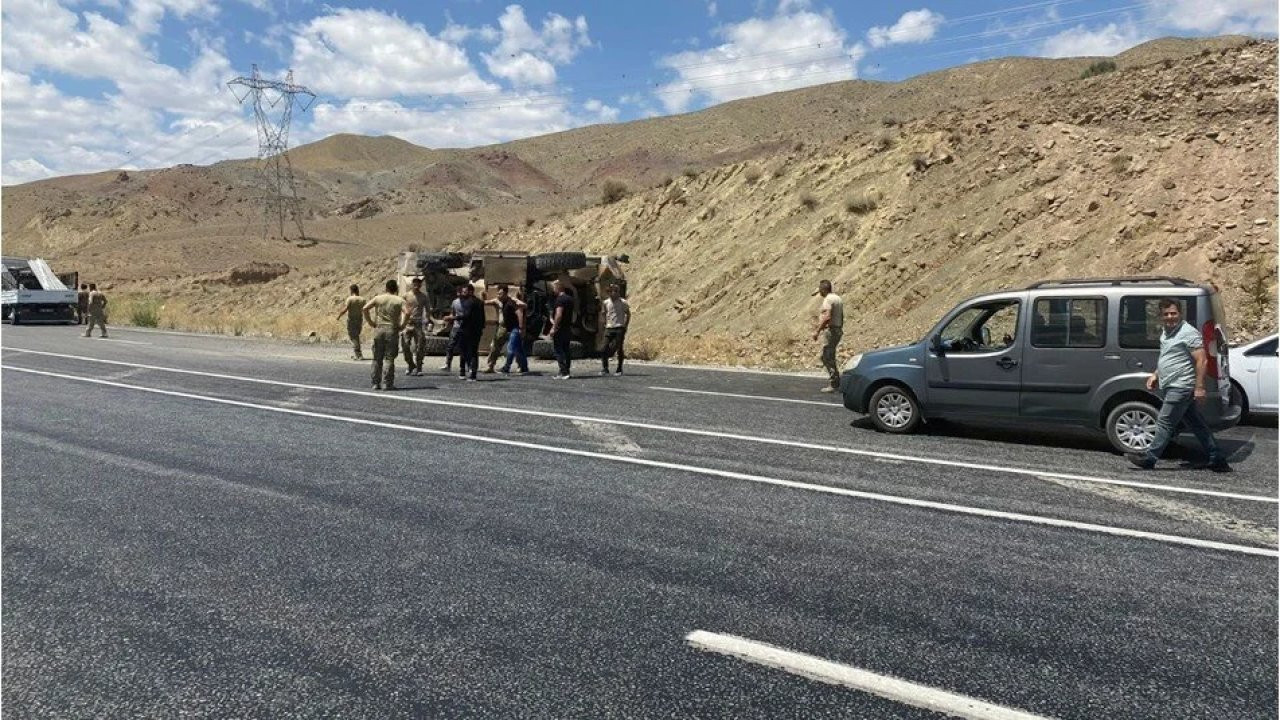
<path id="1" fill-rule="evenodd" d="M 339 97 L 495 91 L 466 53 L 379 10 L 339 9 L 293 36 L 293 68 L 311 90 Z"/>

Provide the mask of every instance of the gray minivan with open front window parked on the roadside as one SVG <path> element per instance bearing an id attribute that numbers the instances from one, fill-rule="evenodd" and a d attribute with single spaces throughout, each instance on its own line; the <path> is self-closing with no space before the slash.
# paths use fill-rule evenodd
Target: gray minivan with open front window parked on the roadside
<path id="1" fill-rule="evenodd" d="M 1222 301 L 1212 287 L 1169 277 L 1044 281 L 972 297 L 920 342 L 850 360 L 845 407 L 888 433 L 940 418 L 1069 423 L 1106 432 L 1120 452 L 1144 451 L 1160 413 L 1146 380 L 1160 355 L 1164 297 L 1204 337 L 1206 421 L 1235 425 Z"/>

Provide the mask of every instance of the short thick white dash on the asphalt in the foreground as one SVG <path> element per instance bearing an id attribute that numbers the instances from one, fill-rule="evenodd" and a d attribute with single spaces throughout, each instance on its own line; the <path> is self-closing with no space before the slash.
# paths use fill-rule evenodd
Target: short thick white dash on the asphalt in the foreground
<path id="1" fill-rule="evenodd" d="M 696 650 L 728 655 L 748 662 L 764 665 L 765 667 L 785 670 L 792 675 L 833 685 L 844 685 L 901 702 L 902 705 L 942 712 L 951 717 L 964 717 L 966 720 L 1046 720 L 1041 715 L 1032 715 L 974 697 L 900 680 L 891 675 L 881 675 L 863 670 L 861 667 L 854 667 L 852 665 L 832 662 L 814 655 L 795 652 L 737 635 L 694 630 L 685 635 L 685 642 Z"/>

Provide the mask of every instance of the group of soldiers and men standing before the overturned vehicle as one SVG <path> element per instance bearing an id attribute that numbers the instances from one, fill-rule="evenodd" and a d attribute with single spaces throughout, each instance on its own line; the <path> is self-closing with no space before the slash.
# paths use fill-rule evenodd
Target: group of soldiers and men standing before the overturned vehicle
<path id="1" fill-rule="evenodd" d="M 572 375 L 571 328 L 575 301 L 568 284 L 561 281 L 552 283 L 552 292 L 554 300 L 547 329 L 557 363 L 556 378 L 568 379 Z M 485 306 L 495 309 L 497 319 L 484 373 L 511 374 L 515 364 L 518 374 L 527 375 L 529 357 L 525 345 L 531 331 L 535 332 L 534 337 L 538 337 L 543 328 L 529 327 L 529 306 L 506 284 L 499 284 L 495 297 L 490 300 L 477 297 L 475 286 L 470 283 L 458 286 L 449 314 L 439 320 L 431 318 L 430 299 L 422 292 L 421 278 L 413 278 L 404 295 L 399 295 L 399 284 L 396 281 L 387 281 L 384 291 L 367 301 L 360 295 L 360 287 L 353 284 L 351 296 L 338 311 L 338 319 L 347 318 L 347 337 L 352 343 L 353 360 L 365 359 L 360 336 L 366 324 L 372 329 L 372 387 L 396 389 L 396 356 L 398 354 L 404 356 L 404 363 L 408 365 L 406 375 L 421 375 L 428 338 L 433 337 L 436 322 L 448 327 L 448 345 L 440 370 L 452 372 L 453 359 L 457 357 L 458 378 L 475 382 L 480 373 L 480 342 L 488 322 Z M 621 375 L 631 306 L 613 284 L 609 286 L 602 310 L 605 325 L 600 374 L 611 374 L 609 361 L 616 360 L 613 374 Z M 498 369 L 498 360 L 503 356 L 506 360 L 502 369 Z"/>

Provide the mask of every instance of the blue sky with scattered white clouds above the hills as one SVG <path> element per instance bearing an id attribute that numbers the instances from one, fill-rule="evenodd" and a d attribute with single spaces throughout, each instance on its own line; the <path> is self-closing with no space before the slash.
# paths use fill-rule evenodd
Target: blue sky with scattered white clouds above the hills
<path id="1" fill-rule="evenodd" d="M 253 156 L 227 82 L 316 94 L 335 132 L 470 147 L 1005 55 L 1169 35 L 1274 37 L 1275 0 L 5 0 L 0 182 Z"/>

